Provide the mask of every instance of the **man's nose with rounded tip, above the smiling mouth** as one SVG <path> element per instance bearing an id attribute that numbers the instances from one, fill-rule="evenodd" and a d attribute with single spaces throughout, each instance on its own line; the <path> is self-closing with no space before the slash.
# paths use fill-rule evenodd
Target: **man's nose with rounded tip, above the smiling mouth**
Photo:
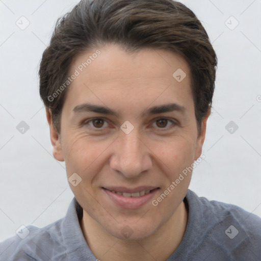
<path id="1" fill-rule="evenodd" d="M 127 178 L 137 177 L 152 166 L 149 146 L 136 128 L 129 134 L 121 131 L 114 144 L 110 167 Z"/>

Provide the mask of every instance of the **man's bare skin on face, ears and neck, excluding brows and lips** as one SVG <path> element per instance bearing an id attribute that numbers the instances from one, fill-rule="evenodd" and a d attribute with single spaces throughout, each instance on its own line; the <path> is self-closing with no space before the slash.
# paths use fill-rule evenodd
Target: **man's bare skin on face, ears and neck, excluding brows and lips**
<path id="1" fill-rule="evenodd" d="M 67 89 L 60 133 L 46 110 L 53 154 L 65 161 L 68 178 L 75 172 L 82 178 L 76 187 L 69 185 L 83 207 L 81 228 L 97 258 L 166 260 L 186 230 L 188 213 L 183 200 L 192 172 L 157 206 L 150 201 L 136 209 L 118 207 L 101 187 L 154 186 L 160 188 L 153 197 L 158 198 L 201 155 L 210 110 L 198 134 L 190 68 L 181 56 L 149 48 L 131 54 L 113 44 L 99 50 L 101 54 Z M 70 71 L 94 52 L 77 56 Z M 187 74 L 180 83 L 172 76 L 178 68 Z M 119 115 L 73 112 L 85 102 L 107 106 Z M 173 102 L 186 111 L 142 115 L 152 106 Z M 95 117 L 105 121 L 87 122 Z M 159 122 L 159 117 L 176 124 Z M 129 134 L 120 129 L 126 120 L 134 126 Z M 127 239 L 121 233 L 126 225 L 133 232 Z"/>

